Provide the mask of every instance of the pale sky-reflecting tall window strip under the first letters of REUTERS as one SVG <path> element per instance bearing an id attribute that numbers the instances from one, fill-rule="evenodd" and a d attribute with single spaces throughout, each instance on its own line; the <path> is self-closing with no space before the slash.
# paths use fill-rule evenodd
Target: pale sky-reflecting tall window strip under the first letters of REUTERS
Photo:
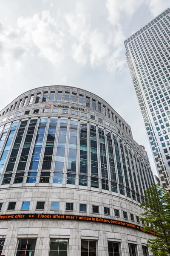
<path id="1" fill-rule="evenodd" d="M 67 184 L 76 184 L 76 155 L 77 155 L 77 125 L 78 121 L 70 121 L 70 137 L 68 144 Z"/>

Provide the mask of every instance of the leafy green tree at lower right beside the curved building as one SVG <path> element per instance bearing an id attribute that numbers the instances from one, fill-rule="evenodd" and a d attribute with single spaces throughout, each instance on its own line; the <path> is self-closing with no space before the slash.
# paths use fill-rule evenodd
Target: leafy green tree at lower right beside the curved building
<path id="1" fill-rule="evenodd" d="M 154 255 L 170 256 L 170 192 L 159 185 L 153 185 L 144 192 L 145 203 L 142 221 L 144 231 L 154 231 L 159 236 L 147 241 Z M 150 223 L 149 226 L 147 224 Z"/>

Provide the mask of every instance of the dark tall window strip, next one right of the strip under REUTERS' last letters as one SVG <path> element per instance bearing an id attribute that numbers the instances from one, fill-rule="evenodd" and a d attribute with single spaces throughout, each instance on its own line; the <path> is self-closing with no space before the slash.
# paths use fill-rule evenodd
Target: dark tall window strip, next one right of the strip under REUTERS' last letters
<path id="1" fill-rule="evenodd" d="M 99 188 L 96 126 L 90 125 L 91 187 Z"/>

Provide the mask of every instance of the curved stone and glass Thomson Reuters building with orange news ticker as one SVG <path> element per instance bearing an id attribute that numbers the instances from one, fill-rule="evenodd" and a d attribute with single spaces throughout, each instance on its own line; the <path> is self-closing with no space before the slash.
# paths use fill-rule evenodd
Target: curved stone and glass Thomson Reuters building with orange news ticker
<path id="1" fill-rule="evenodd" d="M 145 256 L 144 147 L 100 97 L 29 90 L 0 112 L 0 253 Z M 3 245 L 4 244 L 4 245 Z"/>

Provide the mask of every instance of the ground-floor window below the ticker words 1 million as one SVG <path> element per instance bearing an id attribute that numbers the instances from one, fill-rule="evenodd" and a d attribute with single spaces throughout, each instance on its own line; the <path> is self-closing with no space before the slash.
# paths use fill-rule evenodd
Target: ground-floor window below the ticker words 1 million
<path id="1" fill-rule="evenodd" d="M 96 241 L 81 240 L 81 256 L 96 256 Z"/>

